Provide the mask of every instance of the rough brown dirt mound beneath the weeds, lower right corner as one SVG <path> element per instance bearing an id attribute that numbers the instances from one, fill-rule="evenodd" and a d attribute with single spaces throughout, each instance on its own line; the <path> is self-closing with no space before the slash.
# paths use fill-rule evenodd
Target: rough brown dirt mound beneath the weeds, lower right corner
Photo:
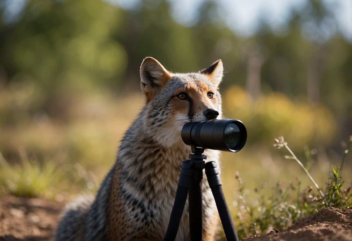
<path id="1" fill-rule="evenodd" d="M 318 213 L 302 217 L 283 232 L 271 231 L 253 241 L 350 241 L 352 240 L 352 210 L 323 208 Z"/>

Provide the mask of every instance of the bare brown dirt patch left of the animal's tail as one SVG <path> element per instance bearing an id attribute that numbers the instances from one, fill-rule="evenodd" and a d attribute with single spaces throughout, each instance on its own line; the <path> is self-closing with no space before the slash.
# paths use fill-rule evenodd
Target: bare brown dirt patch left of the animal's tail
<path id="1" fill-rule="evenodd" d="M 53 240 L 63 207 L 40 198 L 0 197 L 0 241 Z"/>

